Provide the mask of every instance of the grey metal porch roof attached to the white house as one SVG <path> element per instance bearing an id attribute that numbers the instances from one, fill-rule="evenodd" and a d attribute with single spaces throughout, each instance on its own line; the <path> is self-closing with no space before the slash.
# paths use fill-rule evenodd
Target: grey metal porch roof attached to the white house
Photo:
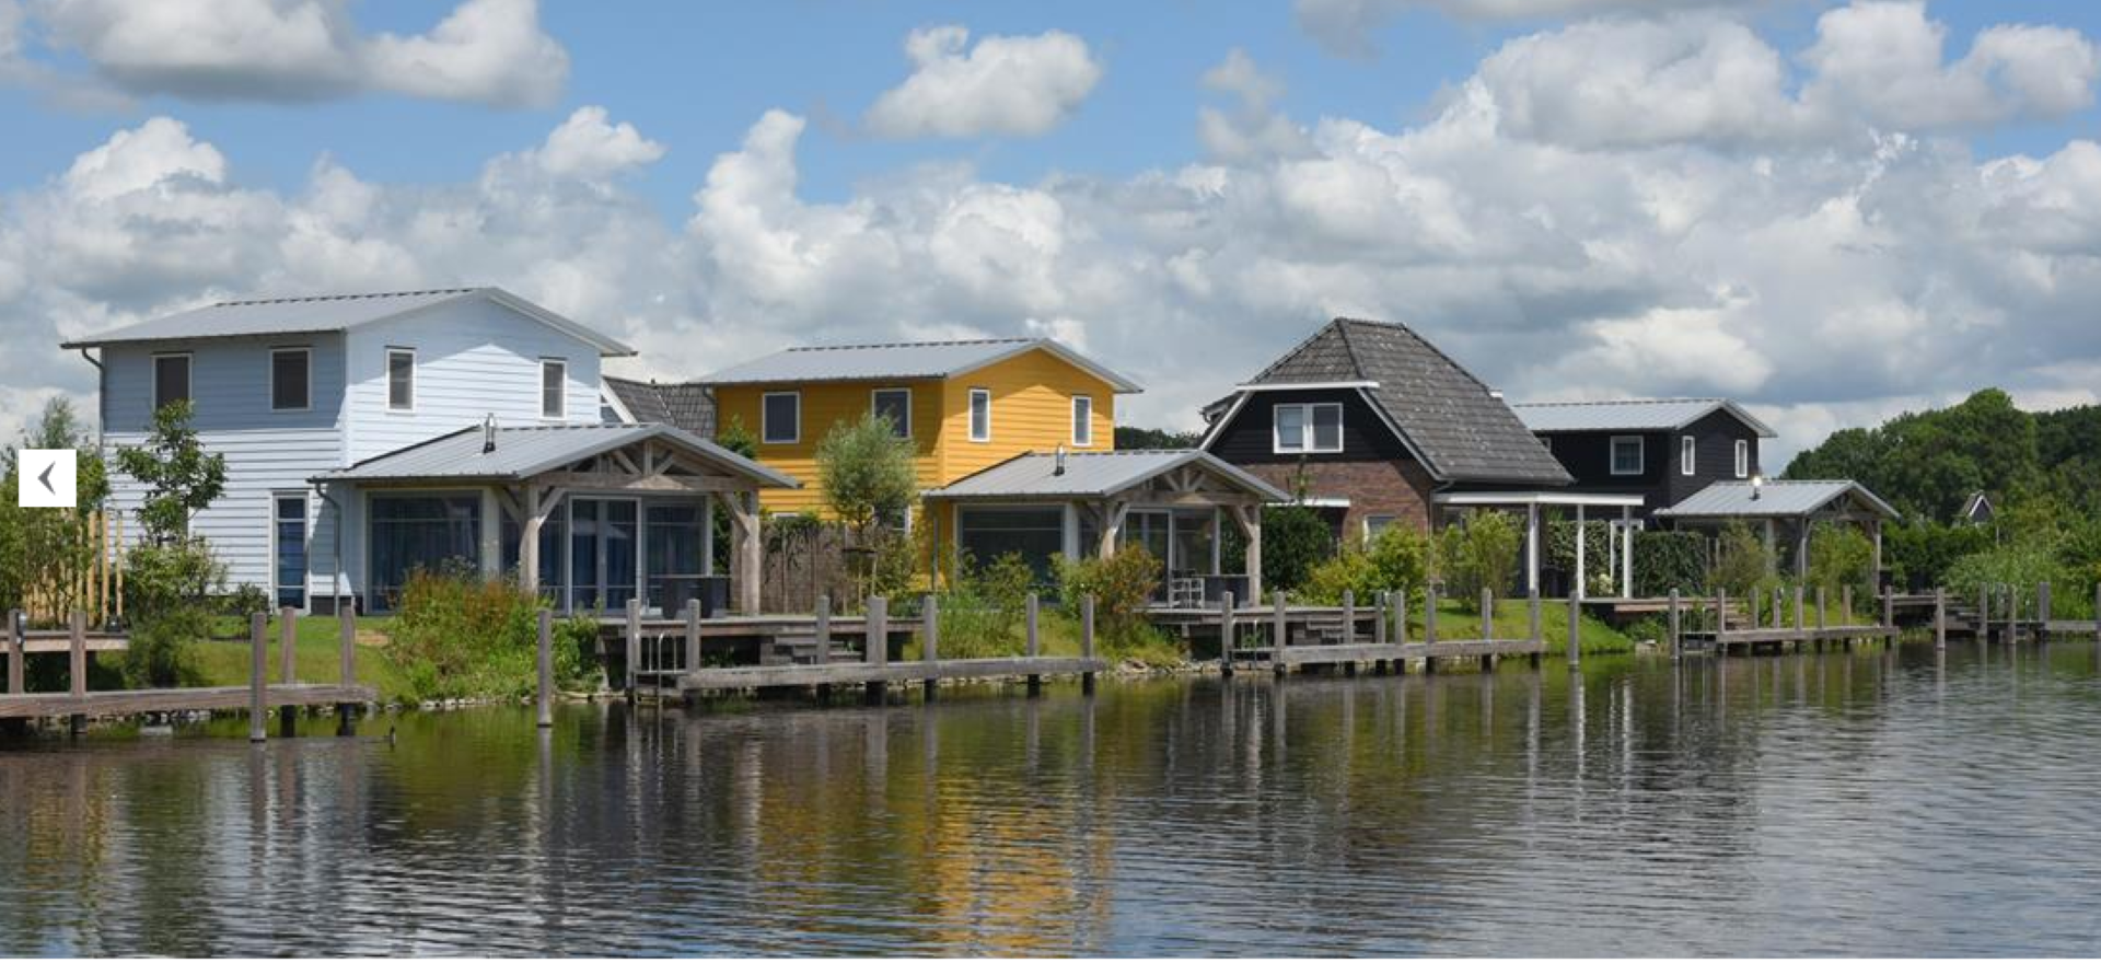
<path id="1" fill-rule="evenodd" d="M 693 437 L 670 425 L 529 425 L 498 427 L 496 448 L 483 452 L 481 427 L 412 444 L 347 469 L 317 475 L 309 481 L 523 481 L 563 465 L 658 439 L 731 475 L 758 481 L 761 488 L 800 488 L 779 471 L 758 465 L 704 437 Z"/>

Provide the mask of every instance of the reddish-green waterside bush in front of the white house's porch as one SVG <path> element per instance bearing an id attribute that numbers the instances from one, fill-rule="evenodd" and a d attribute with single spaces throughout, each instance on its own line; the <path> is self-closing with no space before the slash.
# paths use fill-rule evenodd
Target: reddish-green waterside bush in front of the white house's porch
<path id="1" fill-rule="evenodd" d="M 418 700 L 521 698 L 538 688 L 542 601 L 506 580 L 466 572 L 414 572 L 389 633 L 387 656 Z M 592 667 L 597 622 L 559 622 L 555 677 L 563 685 Z"/>

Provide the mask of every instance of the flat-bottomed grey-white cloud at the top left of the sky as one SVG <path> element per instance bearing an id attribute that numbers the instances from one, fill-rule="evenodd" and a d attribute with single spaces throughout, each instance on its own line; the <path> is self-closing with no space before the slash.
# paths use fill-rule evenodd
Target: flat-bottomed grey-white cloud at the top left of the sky
<path id="1" fill-rule="evenodd" d="M 345 0 L 48 0 L 32 11 L 53 57 L 78 55 L 95 80 L 141 97 L 397 93 L 515 107 L 553 101 L 569 71 L 567 53 L 540 29 L 534 0 L 466 0 L 412 36 L 363 34 Z M 0 80 L 6 38 L 0 11 Z M 17 59 L 29 63 L 21 53 Z M 48 63 L 32 67 L 38 80 L 59 76 Z"/>

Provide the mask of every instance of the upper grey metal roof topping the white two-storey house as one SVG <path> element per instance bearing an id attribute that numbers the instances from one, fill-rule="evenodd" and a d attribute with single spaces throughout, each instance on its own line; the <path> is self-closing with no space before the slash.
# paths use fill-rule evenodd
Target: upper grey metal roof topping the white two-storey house
<path id="1" fill-rule="evenodd" d="M 221 301 L 189 311 L 153 317 L 101 334 L 67 341 L 65 349 L 128 345 L 141 341 L 240 339 L 258 334 L 315 334 L 361 328 L 454 301 L 494 301 L 548 328 L 599 349 L 603 355 L 632 355 L 635 349 L 576 324 L 502 288 L 397 290 L 376 294 L 321 294 L 294 299 Z"/>

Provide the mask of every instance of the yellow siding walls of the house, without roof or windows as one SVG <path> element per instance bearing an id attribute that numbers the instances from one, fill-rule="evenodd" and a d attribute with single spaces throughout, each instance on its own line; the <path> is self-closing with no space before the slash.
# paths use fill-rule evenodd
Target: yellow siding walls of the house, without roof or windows
<path id="1" fill-rule="evenodd" d="M 1072 397 L 1095 399 L 1095 444 L 1116 448 L 1116 389 L 1048 351 L 1029 351 L 975 372 L 916 383 L 845 385 L 737 385 L 714 389 L 716 431 L 742 423 L 761 437 L 761 397 L 771 391 L 803 393 L 803 435 L 794 444 L 758 442 L 758 460 L 803 481 L 798 490 L 763 490 L 767 511 L 824 513 L 817 488 L 817 442 L 845 421 L 868 414 L 872 391 L 912 389 L 912 444 L 920 488 L 939 488 L 1021 452 L 1072 448 Z M 971 442 L 971 389 L 992 391 L 992 439 Z"/>

